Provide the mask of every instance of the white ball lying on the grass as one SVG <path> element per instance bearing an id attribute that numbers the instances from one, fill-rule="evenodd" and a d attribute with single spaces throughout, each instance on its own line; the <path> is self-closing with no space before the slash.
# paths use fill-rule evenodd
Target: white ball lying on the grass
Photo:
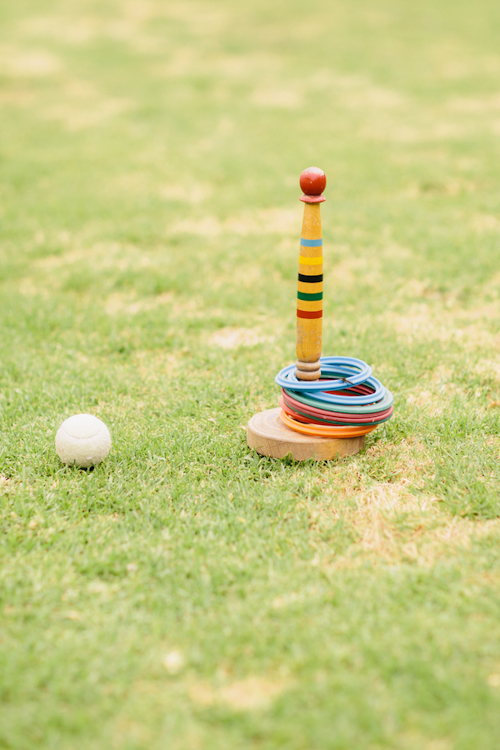
<path id="1" fill-rule="evenodd" d="M 101 463 L 111 448 L 111 435 L 100 419 L 92 414 L 75 414 L 59 427 L 56 451 L 61 461 L 88 469 Z"/>

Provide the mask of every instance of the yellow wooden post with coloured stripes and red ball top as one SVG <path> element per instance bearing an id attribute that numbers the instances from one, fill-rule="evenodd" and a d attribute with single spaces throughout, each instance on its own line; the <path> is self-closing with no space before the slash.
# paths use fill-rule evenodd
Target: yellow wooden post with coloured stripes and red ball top
<path id="1" fill-rule="evenodd" d="M 325 173 L 309 167 L 300 175 L 304 195 L 304 219 L 300 240 L 297 290 L 297 362 L 299 380 L 318 380 L 321 375 L 323 334 L 323 239 L 320 203 L 326 187 Z"/>

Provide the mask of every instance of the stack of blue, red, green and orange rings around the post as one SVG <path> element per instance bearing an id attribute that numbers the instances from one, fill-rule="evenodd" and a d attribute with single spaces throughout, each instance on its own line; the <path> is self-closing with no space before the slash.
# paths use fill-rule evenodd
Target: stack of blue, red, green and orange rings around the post
<path id="1" fill-rule="evenodd" d="M 366 435 L 391 418 L 394 397 L 354 357 L 321 357 L 320 380 L 295 376 L 295 365 L 276 375 L 281 419 L 304 435 L 345 438 Z"/>

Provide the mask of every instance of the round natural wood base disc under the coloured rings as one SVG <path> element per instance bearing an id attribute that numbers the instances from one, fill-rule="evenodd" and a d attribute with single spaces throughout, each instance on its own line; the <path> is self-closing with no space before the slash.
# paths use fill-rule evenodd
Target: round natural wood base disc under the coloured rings
<path id="1" fill-rule="evenodd" d="M 262 456 L 285 458 L 291 453 L 296 461 L 329 461 L 352 456 L 364 447 L 365 436 L 356 438 L 322 438 L 302 435 L 286 426 L 280 418 L 281 409 L 261 411 L 247 425 L 247 443 Z"/>

